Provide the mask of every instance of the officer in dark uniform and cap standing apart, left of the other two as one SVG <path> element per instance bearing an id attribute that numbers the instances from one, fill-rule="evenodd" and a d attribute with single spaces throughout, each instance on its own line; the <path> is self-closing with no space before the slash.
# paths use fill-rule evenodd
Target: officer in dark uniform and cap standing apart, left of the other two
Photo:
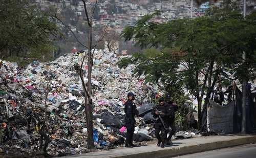
<path id="1" fill-rule="evenodd" d="M 133 133 L 135 128 L 135 115 L 138 115 L 138 110 L 133 102 L 135 95 L 130 92 L 127 94 L 128 100 L 124 103 L 125 122 L 126 122 L 126 143 L 125 147 L 132 148 L 136 145 L 133 144 Z"/>

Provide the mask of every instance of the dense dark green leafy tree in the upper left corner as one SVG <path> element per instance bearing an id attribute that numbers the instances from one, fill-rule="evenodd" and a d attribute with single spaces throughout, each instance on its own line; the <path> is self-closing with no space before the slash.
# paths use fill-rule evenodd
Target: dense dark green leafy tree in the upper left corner
<path id="1" fill-rule="evenodd" d="M 0 2 L 0 58 L 19 63 L 52 58 L 61 37 L 50 16 L 28 1 Z"/>

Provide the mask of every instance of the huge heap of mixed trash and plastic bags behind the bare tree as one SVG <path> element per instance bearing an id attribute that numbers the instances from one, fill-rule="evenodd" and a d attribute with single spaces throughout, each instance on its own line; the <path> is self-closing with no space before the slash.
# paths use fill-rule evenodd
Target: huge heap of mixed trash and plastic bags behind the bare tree
<path id="1" fill-rule="evenodd" d="M 89 152 L 84 94 L 76 69 L 84 53 L 66 54 L 47 63 L 33 61 L 26 69 L 3 61 L 0 69 L 0 155 L 33 154 L 39 150 L 42 136 L 49 138 L 46 151 L 50 155 Z M 97 149 L 115 148 L 125 143 L 123 103 L 128 92 L 137 95 L 137 106 L 150 103 L 158 93 L 156 86 L 142 84 L 143 79 L 132 75 L 134 65 L 120 70 L 119 58 L 95 50 L 92 84 Z M 84 81 L 87 81 L 88 67 L 86 62 L 83 65 Z M 143 118 L 136 118 L 134 140 L 152 140 L 153 129 L 153 125 L 146 124 Z"/>

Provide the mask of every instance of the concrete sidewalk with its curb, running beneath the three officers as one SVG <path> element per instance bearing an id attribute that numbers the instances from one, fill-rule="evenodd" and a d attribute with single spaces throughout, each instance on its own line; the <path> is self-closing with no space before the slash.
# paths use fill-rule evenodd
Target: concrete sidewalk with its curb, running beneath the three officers
<path id="1" fill-rule="evenodd" d="M 156 144 L 135 148 L 117 148 L 108 151 L 97 151 L 79 155 L 64 156 L 65 158 L 151 158 L 171 157 L 206 150 L 213 150 L 231 146 L 256 142 L 256 135 L 227 135 L 208 136 L 184 140 L 174 140 L 173 146 L 160 148 Z M 64 158 L 62 157 L 62 158 Z"/>

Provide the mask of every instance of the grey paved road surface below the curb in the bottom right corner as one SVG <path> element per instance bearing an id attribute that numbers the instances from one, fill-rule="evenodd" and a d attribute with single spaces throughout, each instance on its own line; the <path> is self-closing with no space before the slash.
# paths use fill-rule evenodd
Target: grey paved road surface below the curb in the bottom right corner
<path id="1" fill-rule="evenodd" d="M 256 157 L 256 144 L 246 144 L 237 147 L 230 147 L 218 150 L 211 150 L 206 152 L 199 152 L 194 154 L 188 154 L 183 156 L 177 156 L 176 158 L 255 158 Z"/>

